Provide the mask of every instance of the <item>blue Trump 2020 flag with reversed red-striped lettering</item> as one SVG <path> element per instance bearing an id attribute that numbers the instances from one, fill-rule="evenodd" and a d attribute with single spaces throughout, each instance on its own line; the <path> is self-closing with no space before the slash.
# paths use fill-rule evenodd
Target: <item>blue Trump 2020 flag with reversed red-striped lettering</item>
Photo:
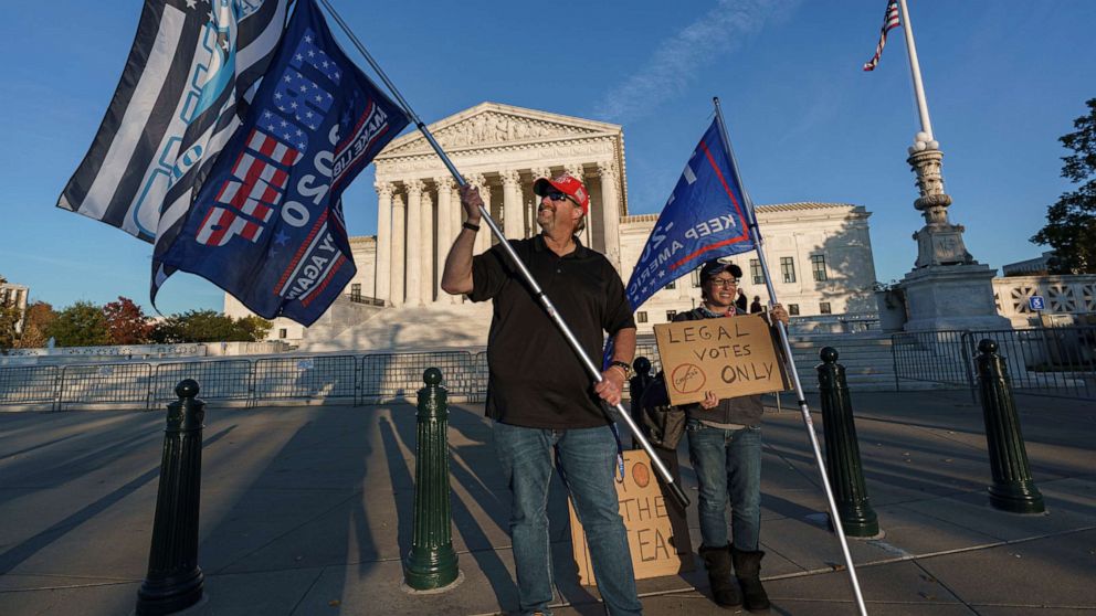
<path id="1" fill-rule="evenodd" d="M 264 318 L 313 323 L 356 272 L 339 195 L 407 125 L 315 1 L 298 0 L 242 126 L 158 240 L 154 272 L 198 274 Z"/>

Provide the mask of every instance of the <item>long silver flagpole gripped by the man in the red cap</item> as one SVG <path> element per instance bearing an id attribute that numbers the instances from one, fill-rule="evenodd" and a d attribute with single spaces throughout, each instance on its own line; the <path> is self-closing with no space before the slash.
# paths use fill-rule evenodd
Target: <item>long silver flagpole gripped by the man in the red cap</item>
<path id="1" fill-rule="evenodd" d="M 336 23 L 339 24 L 339 28 L 346 32 L 346 35 L 350 39 L 350 42 L 354 43 L 354 46 L 357 47 L 358 52 L 366 59 L 366 62 L 369 63 L 369 66 L 372 67 L 373 72 L 376 72 L 380 79 L 384 83 L 384 86 L 387 86 L 389 92 L 392 93 L 392 96 L 396 97 L 397 103 L 408 114 L 408 117 L 411 118 L 411 121 L 414 123 L 419 131 L 426 138 L 430 147 L 434 149 L 434 152 L 436 152 L 438 157 L 442 159 L 443 163 L 445 163 L 445 167 L 453 176 L 453 179 L 456 180 L 457 185 L 466 185 L 467 181 L 465 181 L 464 176 L 457 171 L 456 166 L 453 164 L 452 160 L 450 160 L 441 145 L 439 145 L 434 139 L 434 136 L 430 134 L 426 125 L 419 119 L 418 114 L 411 109 L 411 106 L 408 104 L 407 99 L 404 99 L 403 95 L 400 94 L 400 91 L 397 89 L 396 84 L 388 78 L 388 75 L 384 74 L 384 71 L 381 70 L 380 65 L 371 55 L 369 55 L 369 52 L 366 51 L 365 45 L 362 45 L 358 38 L 354 34 L 350 26 L 342 21 L 342 18 L 335 11 L 335 8 L 331 7 L 331 3 L 328 2 L 328 0 L 320 0 L 320 2 L 324 4 L 324 8 L 327 9 L 327 12 L 335 19 Z M 582 346 L 579 343 L 578 339 L 575 338 L 575 333 L 571 331 L 571 328 L 568 327 L 566 321 L 563 321 L 563 318 L 556 310 L 556 306 L 552 305 L 551 300 L 548 298 L 548 295 L 545 294 L 544 289 L 540 288 L 540 285 L 538 285 L 536 279 L 533 278 L 533 274 L 529 273 L 525 264 L 521 263 L 521 259 L 518 258 L 517 253 L 514 252 L 514 247 L 506 241 L 506 235 L 504 235 L 502 229 L 498 227 L 498 223 L 491 217 L 491 212 L 488 212 L 487 208 L 484 205 L 479 205 L 479 212 L 483 214 L 484 222 L 486 222 L 487 226 L 491 227 L 491 232 L 498 238 L 498 245 L 503 247 L 504 252 L 506 252 L 510 263 L 515 268 L 517 268 L 518 272 L 521 273 L 521 277 L 529 286 L 530 293 L 533 293 L 534 297 L 540 301 L 545 312 L 548 314 L 548 316 L 556 323 L 556 327 L 559 328 L 559 331 L 563 334 L 563 338 L 567 339 L 567 342 L 571 346 L 571 350 L 575 351 L 575 354 L 582 362 L 582 365 L 586 368 L 587 372 L 590 373 L 590 376 L 594 380 L 594 382 L 600 383 L 603 380 L 601 376 L 601 371 L 598 370 L 598 367 L 593 363 L 593 361 L 587 357 L 586 352 L 582 350 Z M 632 433 L 632 438 L 639 442 L 640 446 L 643 447 L 643 450 L 651 457 L 651 464 L 654 465 L 655 469 L 658 471 L 658 476 L 662 478 L 662 481 L 666 486 L 667 490 L 670 490 L 673 499 L 677 502 L 682 510 L 687 508 L 689 501 L 688 497 L 685 496 L 685 491 L 682 490 L 681 486 L 676 481 L 674 481 L 674 476 L 670 472 L 670 468 L 662 461 L 662 458 L 655 453 L 654 448 L 651 446 L 651 443 L 640 431 L 639 426 L 635 425 L 635 421 L 632 419 L 631 414 L 624 410 L 623 403 L 618 403 L 614 411 L 616 411 L 616 418 L 623 422 L 624 425 L 628 426 L 628 429 Z"/>

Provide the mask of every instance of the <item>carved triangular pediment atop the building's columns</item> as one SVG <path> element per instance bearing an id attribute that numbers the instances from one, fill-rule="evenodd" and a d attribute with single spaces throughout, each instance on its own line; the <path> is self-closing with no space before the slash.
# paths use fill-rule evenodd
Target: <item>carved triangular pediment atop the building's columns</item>
<path id="1" fill-rule="evenodd" d="M 556 141 L 598 135 L 615 136 L 621 132 L 621 127 L 615 124 L 512 107 L 498 103 L 481 103 L 475 107 L 435 121 L 428 128 L 445 151 Z M 415 130 L 389 144 L 377 156 L 377 159 L 383 160 L 432 152 L 433 149 L 426 142 L 426 138 Z"/>

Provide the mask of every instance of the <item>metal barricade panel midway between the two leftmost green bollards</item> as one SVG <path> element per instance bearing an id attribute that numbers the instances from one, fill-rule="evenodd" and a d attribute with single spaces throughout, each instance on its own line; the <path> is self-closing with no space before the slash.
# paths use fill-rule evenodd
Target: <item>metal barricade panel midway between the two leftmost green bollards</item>
<path id="1" fill-rule="evenodd" d="M 252 400 L 349 397 L 357 400 L 354 355 L 313 355 L 255 360 Z"/>

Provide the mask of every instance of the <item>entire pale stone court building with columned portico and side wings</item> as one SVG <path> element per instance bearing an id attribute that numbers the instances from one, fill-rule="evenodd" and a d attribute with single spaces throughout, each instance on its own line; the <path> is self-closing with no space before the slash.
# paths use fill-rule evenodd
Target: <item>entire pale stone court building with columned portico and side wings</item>
<path id="1" fill-rule="evenodd" d="M 538 200 L 533 193 L 537 178 L 560 171 L 580 178 L 590 191 L 581 241 L 603 253 L 626 284 L 657 214 L 628 213 L 621 126 L 483 103 L 431 125 L 430 130 L 465 180 L 479 188 L 492 216 L 510 238 L 539 232 Z M 344 291 L 345 300 L 383 304 L 386 311 L 405 314 L 409 320 L 423 309 L 460 314 L 454 305 L 465 299 L 440 287 L 445 256 L 463 216 L 453 178 L 418 131 L 389 144 L 375 164 L 377 236 L 351 238 L 358 274 Z M 661 205 L 643 204 L 647 211 Z M 863 206 L 803 202 L 759 205 L 757 213 L 777 295 L 793 316 L 874 311 L 871 214 Z M 475 252 L 486 251 L 495 241 L 484 225 Z M 760 296 L 765 302 L 768 294 L 756 254 L 730 261 L 744 270 L 742 288 L 749 299 Z M 636 312 L 640 332 L 692 308 L 699 299 L 697 287 L 693 273 L 655 294 Z M 249 312 L 225 296 L 225 314 Z M 486 329 L 486 323 L 482 327 Z M 320 328 L 313 329 L 320 333 Z M 328 327 L 323 333 L 333 331 Z M 307 332 L 293 321 L 276 319 L 270 337 L 299 341 Z"/>

